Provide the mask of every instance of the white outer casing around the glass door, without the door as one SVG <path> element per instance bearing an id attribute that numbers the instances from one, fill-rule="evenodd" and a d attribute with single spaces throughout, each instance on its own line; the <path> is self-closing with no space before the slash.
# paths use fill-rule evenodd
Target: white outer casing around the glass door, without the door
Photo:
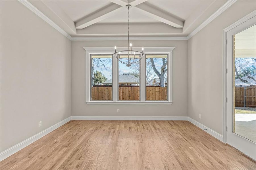
<path id="1" fill-rule="evenodd" d="M 256 16 L 256 10 L 249 13 L 248 15 L 244 16 L 237 22 L 233 23 L 232 25 L 226 27 L 223 29 L 223 57 L 222 57 L 222 76 L 223 76 L 223 84 L 222 84 L 222 100 L 223 100 L 223 114 L 222 114 L 222 134 L 223 134 L 223 142 L 227 143 L 227 101 L 232 100 L 230 98 L 227 98 L 227 73 L 230 73 L 231 70 L 227 70 L 227 32 L 231 29 L 237 27 L 238 25 L 246 22 L 247 20 L 250 20 L 251 18 Z"/>

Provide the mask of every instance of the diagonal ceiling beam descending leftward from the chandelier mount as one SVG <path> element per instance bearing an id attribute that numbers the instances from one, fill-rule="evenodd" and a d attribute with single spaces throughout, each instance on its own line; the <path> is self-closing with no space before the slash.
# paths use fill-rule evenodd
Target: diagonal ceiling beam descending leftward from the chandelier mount
<path id="1" fill-rule="evenodd" d="M 83 18 L 76 22 L 76 29 L 83 29 L 85 27 L 88 27 L 92 24 L 95 24 L 97 22 L 100 22 L 101 20 L 104 20 L 106 18 L 109 18 L 110 16 L 115 15 L 116 13 L 120 12 L 123 7 L 117 4 L 111 4 L 108 5 L 97 12 L 87 16 L 86 18 Z"/>

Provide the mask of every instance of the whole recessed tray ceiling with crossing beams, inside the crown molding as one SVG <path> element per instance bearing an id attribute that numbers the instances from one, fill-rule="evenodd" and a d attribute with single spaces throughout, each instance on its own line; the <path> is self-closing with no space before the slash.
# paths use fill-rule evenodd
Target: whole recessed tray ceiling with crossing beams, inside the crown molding
<path id="1" fill-rule="evenodd" d="M 128 4 L 132 5 L 130 36 L 186 37 L 228 3 L 228 0 L 28 0 L 28 2 L 71 37 L 126 37 Z"/>

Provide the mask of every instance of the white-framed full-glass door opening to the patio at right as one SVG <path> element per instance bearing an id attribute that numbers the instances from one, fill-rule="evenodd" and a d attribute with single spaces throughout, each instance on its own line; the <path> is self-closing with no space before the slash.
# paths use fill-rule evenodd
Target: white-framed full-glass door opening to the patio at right
<path id="1" fill-rule="evenodd" d="M 227 143 L 256 159 L 256 17 L 227 32 Z M 230 71 L 229 71 L 230 70 Z"/>

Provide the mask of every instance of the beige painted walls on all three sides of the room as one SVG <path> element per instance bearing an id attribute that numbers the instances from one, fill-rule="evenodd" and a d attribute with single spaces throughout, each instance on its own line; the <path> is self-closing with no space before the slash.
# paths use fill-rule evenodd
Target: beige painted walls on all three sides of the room
<path id="1" fill-rule="evenodd" d="M 73 116 L 190 116 L 222 133 L 222 30 L 253 10 L 255 1 L 238 1 L 188 41 L 132 41 L 176 47 L 172 105 L 87 105 L 83 47 L 127 41 L 71 42 L 21 3 L 0 1 L 0 152 L 71 111 Z"/>

